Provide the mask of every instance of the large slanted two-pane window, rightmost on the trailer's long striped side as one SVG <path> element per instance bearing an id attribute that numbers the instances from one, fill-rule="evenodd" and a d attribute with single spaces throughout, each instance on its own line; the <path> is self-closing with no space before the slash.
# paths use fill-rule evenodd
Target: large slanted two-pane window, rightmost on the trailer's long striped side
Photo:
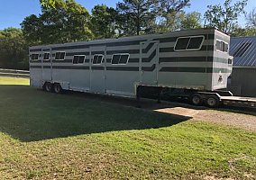
<path id="1" fill-rule="evenodd" d="M 175 51 L 201 49 L 205 36 L 182 37 L 176 40 Z"/>

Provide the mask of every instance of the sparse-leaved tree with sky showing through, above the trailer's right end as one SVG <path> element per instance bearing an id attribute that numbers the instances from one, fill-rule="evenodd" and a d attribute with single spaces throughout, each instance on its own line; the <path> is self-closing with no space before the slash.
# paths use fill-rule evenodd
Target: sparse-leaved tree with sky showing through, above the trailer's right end
<path id="1" fill-rule="evenodd" d="M 229 33 L 237 24 L 238 17 L 244 14 L 244 7 L 248 0 L 237 1 L 232 5 L 232 0 L 225 0 L 224 5 L 208 5 L 205 13 L 205 26 L 214 27 Z"/>

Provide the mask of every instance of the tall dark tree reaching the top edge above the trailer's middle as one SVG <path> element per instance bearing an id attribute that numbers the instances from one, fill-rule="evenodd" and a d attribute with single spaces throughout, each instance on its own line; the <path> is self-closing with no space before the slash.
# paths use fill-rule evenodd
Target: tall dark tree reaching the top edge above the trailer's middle
<path id="1" fill-rule="evenodd" d="M 123 35 L 140 35 L 152 31 L 155 14 L 151 0 L 123 0 L 116 4 L 119 33 Z"/>

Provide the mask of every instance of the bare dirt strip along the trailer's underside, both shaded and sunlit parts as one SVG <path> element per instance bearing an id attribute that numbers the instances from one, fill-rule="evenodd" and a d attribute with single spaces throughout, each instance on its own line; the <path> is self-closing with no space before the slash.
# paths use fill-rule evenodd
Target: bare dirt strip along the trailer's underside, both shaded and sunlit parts
<path id="1" fill-rule="evenodd" d="M 74 93 L 69 93 L 74 94 Z M 83 94 L 76 93 L 79 97 L 99 100 L 105 103 L 118 103 L 121 105 L 136 106 L 136 100 L 130 98 L 99 95 L 99 94 Z M 256 131 L 256 108 L 242 109 L 223 107 L 215 110 L 200 106 L 190 105 L 187 102 L 166 102 L 156 103 L 156 100 L 142 99 L 142 109 L 146 111 L 156 111 L 188 116 L 189 121 L 211 121 L 231 125 L 244 130 Z"/>

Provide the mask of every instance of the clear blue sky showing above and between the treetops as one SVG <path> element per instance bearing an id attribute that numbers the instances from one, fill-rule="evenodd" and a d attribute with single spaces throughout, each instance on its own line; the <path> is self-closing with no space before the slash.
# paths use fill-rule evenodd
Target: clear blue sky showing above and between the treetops
<path id="1" fill-rule="evenodd" d="M 115 7 L 118 1 L 122 0 L 76 0 L 78 4 L 82 4 L 90 12 L 96 4 L 106 4 Z M 234 2 L 236 0 L 233 0 Z M 186 8 L 187 12 L 197 11 L 202 14 L 206 12 L 209 4 L 223 4 L 224 0 L 191 0 L 191 6 Z M 249 0 L 245 7 L 246 12 L 250 12 L 256 7 L 256 0 Z M 7 27 L 20 28 L 20 23 L 30 14 L 40 14 L 41 8 L 39 0 L 0 0 L 0 30 Z M 239 23 L 244 25 L 245 18 L 239 18 Z"/>

